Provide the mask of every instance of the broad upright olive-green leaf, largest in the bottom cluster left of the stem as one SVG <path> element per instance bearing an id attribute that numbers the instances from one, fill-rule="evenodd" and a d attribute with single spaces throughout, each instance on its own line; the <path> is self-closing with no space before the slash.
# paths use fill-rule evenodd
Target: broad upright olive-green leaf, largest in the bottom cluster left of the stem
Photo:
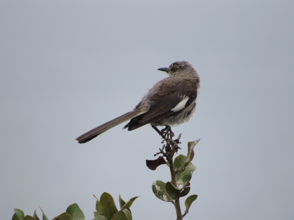
<path id="1" fill-rule="evenodd" d="M 112 196 L 107 192 L 103 192 L 100 197 L 98 212 L 108 220 L 111 220 L 113 215 L 118 212 Z"/>

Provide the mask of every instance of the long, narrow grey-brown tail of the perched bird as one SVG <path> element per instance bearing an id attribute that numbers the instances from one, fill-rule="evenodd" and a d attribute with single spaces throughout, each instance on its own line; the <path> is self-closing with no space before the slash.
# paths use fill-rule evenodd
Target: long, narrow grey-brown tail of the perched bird
<path id="1" fill-rule="evenodd" d="M 76 138 L 76 141 L 78 143 L 86 143 L 88 141 L 91 141 L 93 138 L 96 138 L 99 134 L 103 133 L 104 131 L 107 131 L 108 129 L 117 126 L 125 121 L 128 121 L 132 119 L 133 117 L 136 117 L 140 114 L 142 114 L 142 110 L 134 109 L 133 111 L 127 112 L 126 114 L 123 114 L 111 121 L 108 121 L 96 128 L 93 128 L 92 130 L 82 134 L 81 136 Z"/>

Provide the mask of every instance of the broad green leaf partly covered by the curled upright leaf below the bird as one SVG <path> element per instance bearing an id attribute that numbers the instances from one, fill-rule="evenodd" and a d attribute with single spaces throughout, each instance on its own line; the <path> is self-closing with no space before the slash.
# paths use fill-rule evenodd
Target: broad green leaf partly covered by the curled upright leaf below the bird
<path id="1" fill-rule="evenodd" d="M 187 157 L 185 155 L 178 155 L 175 158 L 175 169 L 176 167 L 183 167 L 185 161 L 187 161 Z M 179 185 L 182 185 L 185 182 L 190 181 L 192 178 L 192 173 L 196 170 L 196 166 L 194 166 L 191 162 L 189 162 L 184 168 L 184 171 L 177 172 L 176 174 L 176 181 Z"/>

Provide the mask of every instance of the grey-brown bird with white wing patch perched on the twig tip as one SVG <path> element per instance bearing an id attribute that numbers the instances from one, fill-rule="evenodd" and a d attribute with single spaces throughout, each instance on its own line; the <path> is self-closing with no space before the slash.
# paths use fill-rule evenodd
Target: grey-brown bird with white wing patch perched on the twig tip
<path id="1" fill-rule="evenodd" d="M 179 125 L 190 119 L 196 109 L 200 78 L 187 61 L 172 63 L 159 68 L 169 77 L 157 82 L 130 112 L 108 121 L 77 137 L 78 143 L 86 143 L 108 129 L 129 121 L 123 128 L 134 130 L 146 124 L 156 126 Z"/>

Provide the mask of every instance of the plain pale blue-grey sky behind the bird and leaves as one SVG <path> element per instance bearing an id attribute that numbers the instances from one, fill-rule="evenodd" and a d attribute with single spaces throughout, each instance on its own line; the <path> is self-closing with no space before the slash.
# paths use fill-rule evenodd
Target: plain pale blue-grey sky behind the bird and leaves
<path id="1" fill-rule="evenodd" d="M 133 203 L 133 219 L 176 219 L 155 197 L 169 181 L 145 160 L 161 147 L 149 126 L 119 125 L 79 145 L 82 133 L 132 110 L 187 60 L 201 77 L 191 120 L 201 138 L 184 219 L 294 219 L 294 1 L 0 2 L 0 210 L 49 219 L 95 198 Z M 184 200 L 181 207 L 184 211 Z"/>

